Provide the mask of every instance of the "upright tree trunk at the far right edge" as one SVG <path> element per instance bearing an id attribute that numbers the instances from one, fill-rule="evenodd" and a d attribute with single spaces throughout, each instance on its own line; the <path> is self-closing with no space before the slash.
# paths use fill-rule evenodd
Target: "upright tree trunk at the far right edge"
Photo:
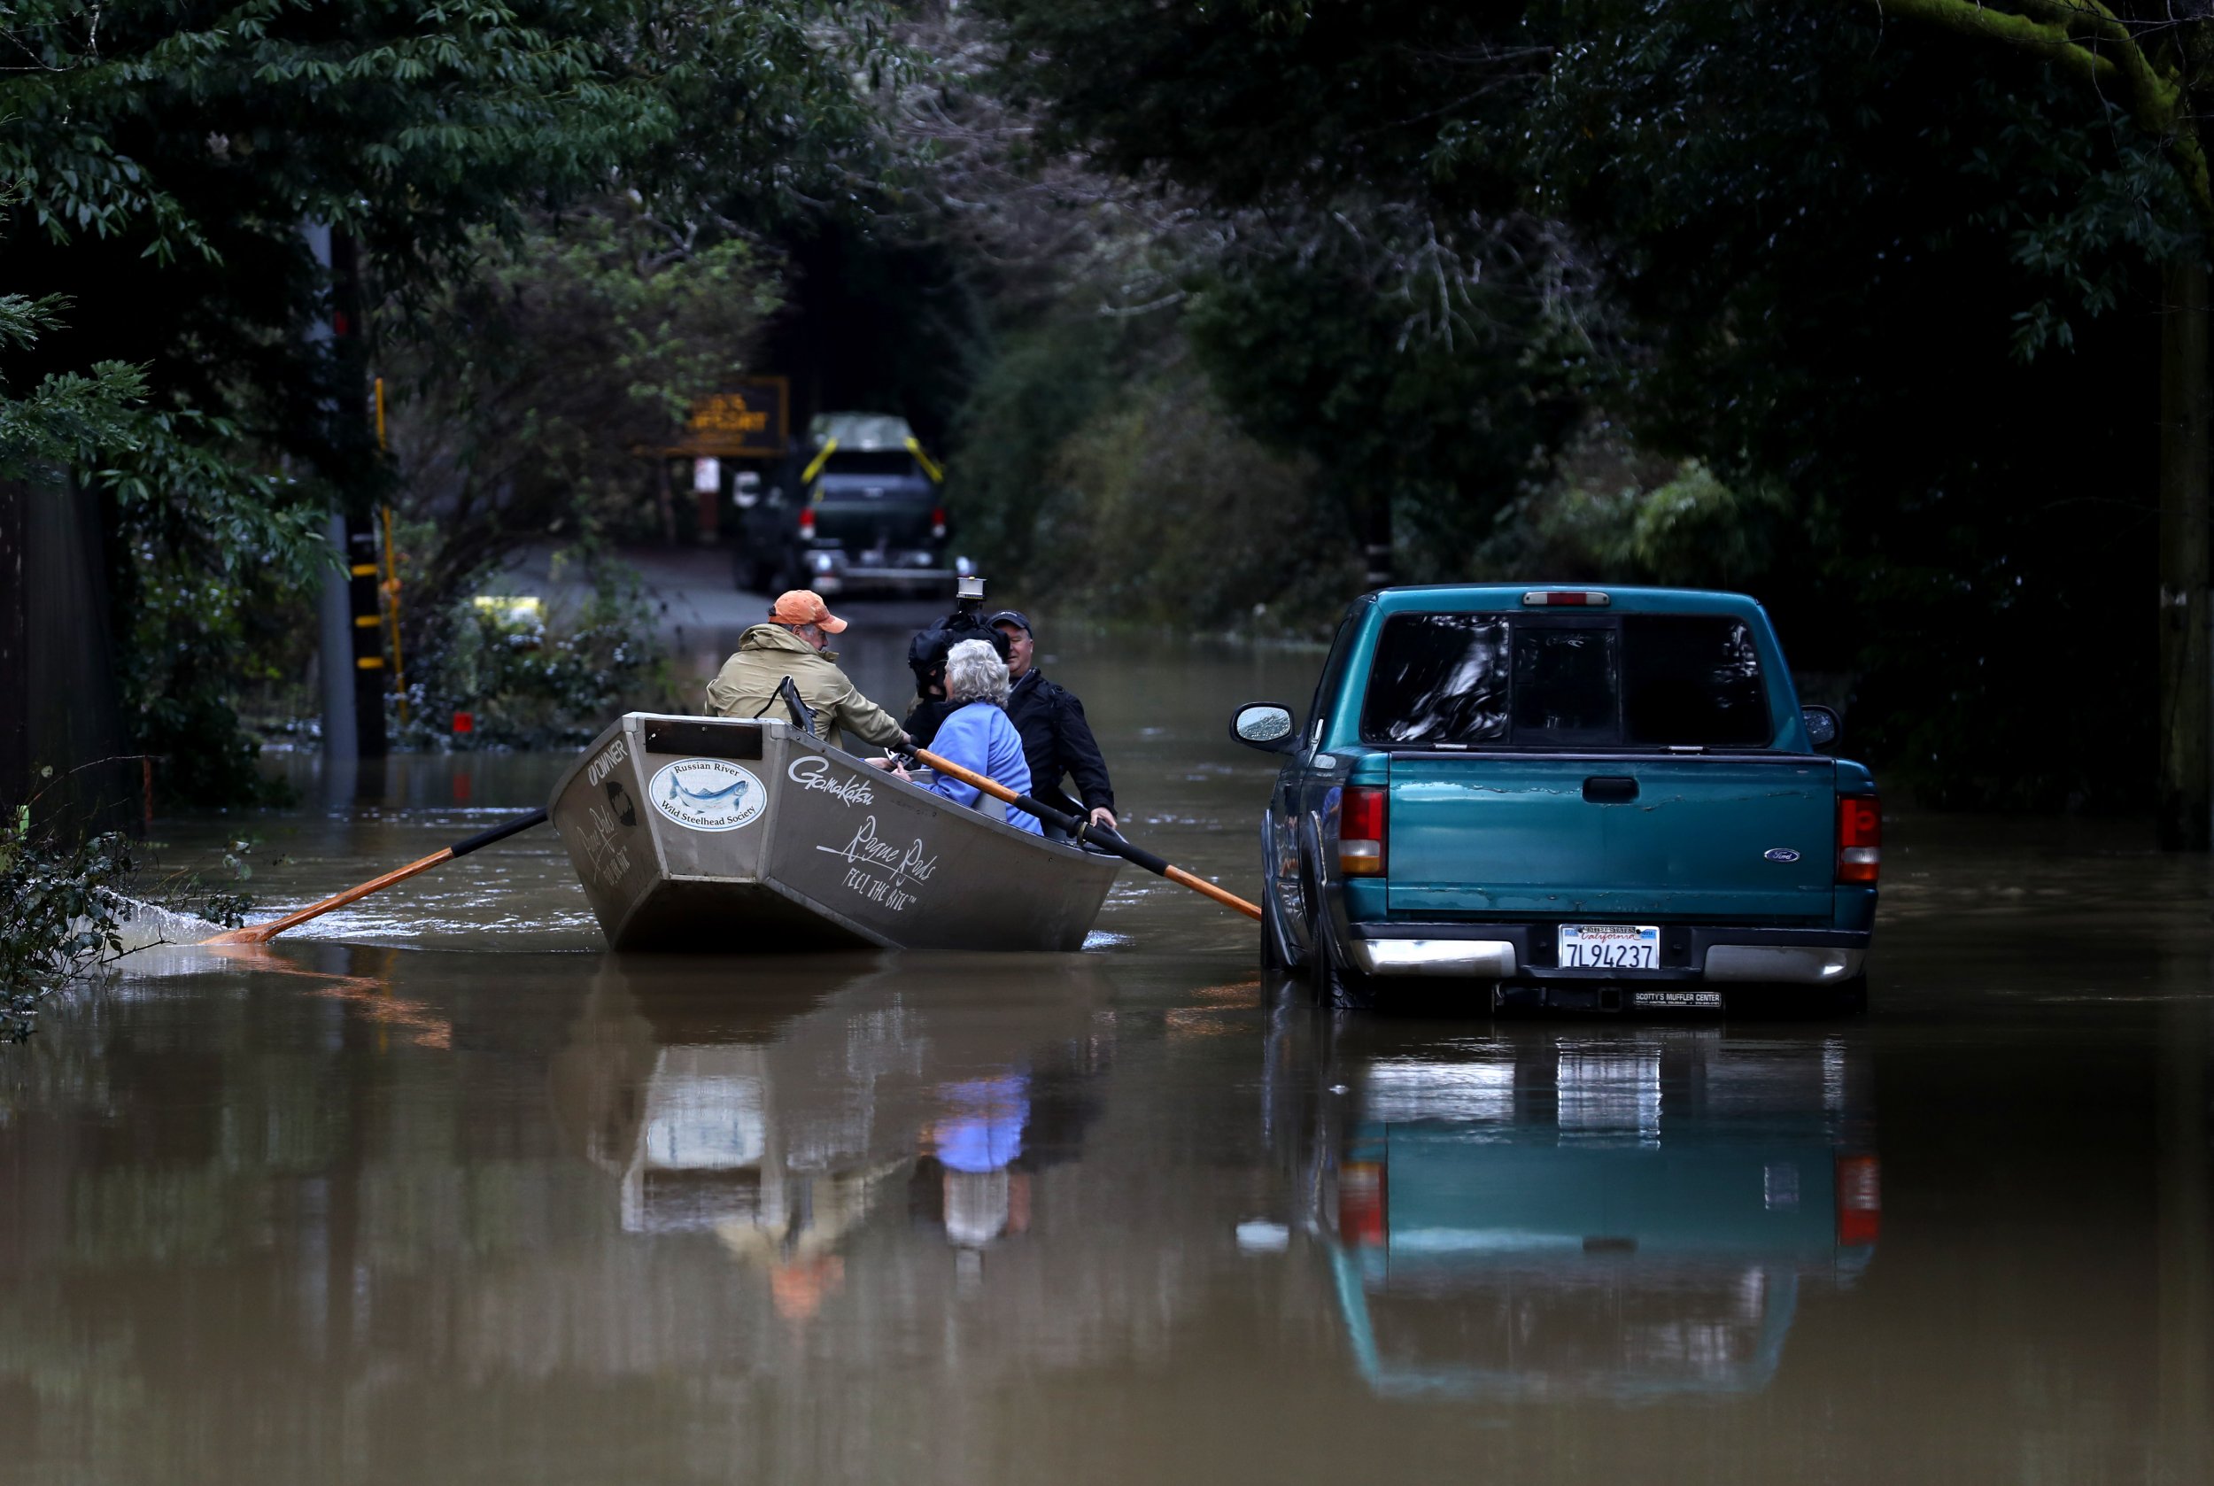
<path id="1" fill-rule="evenodd" d="M 2161 844 L 2205 850 L 2214 824 L 2214 631 L 2207 611 L 2207 266 L 2168 270 L 2161 306 Z"/>

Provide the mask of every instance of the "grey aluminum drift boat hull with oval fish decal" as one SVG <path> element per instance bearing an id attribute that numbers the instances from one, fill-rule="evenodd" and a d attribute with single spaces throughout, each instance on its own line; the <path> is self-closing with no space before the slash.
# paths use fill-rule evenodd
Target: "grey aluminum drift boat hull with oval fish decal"
<path id="1" fill-rule="evenodd" d="M 1076 950 L 1120 866 L 768 718 L 629 713 L 547 815 L 618 950 Z"/>

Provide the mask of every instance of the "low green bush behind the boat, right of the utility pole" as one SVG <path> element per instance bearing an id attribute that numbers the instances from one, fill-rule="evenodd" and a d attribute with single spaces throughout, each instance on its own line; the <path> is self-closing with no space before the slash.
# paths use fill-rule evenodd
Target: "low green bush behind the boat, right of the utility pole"
<path id="1" fill-rule="evenodd" d="M 560 576 L 556 563 L 556 578 Z M 635 574 L 600 563 L 573 611 L 463 600 L 410 664 L 410 740 L 452 749 L 576 749 L 622 711 L 673 693 Z M 474 731 L 449 733 L 454 713 Z"/>

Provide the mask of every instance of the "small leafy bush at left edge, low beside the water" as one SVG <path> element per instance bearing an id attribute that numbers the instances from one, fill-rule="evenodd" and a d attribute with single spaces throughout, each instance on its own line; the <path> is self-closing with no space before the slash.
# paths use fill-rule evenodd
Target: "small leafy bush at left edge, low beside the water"
<path id="1" fill-rule="evenodd" d="M 122 835 L 60 846 L 31 808 L 0 817 L 0 1041 L 31 1034 L 38 1003 L 122 952 L 115 890 L 131 875 Z"/>

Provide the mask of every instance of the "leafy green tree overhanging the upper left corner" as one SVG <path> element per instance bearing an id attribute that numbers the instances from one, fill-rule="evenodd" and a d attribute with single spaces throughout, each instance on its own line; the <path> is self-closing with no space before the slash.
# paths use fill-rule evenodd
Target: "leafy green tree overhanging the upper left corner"
<path id="1" fill-rule="evenodd" d="M 866 27 L 844 27 L 848 13 L 861 9 L 24 0 L 7 11 L 0 40 L 15 62 L 0 73 L 0 182 L 20 193 L 7 283 L 66 299 L 73 314 L 38 343 L 0 348 L 0 374 L 35 385 L 93 363 L 139 368 L 148 416 L 266 496 L 232 507 L 248 525 L 268 516 L 226 532 L 241 538 L 226 549 L 244 560 L 237 585 L 204 549 L 173 547 L 184 527 L 139 520 L 151 505 L 111 505 L 117 616 L 168 616 L 139 633 L 126 667 L 146 746 L 237 753 L 230 678 L 166 658 L 221 642 L 221 625 L 190 618 L 208 591 L 246 589 L 239 611 L 279 607 L 281 594 L 257 589 L 250 554 L 294 507 L 361 507 L 390 481 L 363 405 L 359 306 L 430 314 L 487 239 L 633 182 L 682 244 L 728 233 L 748 204 L 830 195 L 872 142 L 850 69 L 881 49 Z M 354 248 L 337 272 L 317 264 L 303 224 Z"/>

